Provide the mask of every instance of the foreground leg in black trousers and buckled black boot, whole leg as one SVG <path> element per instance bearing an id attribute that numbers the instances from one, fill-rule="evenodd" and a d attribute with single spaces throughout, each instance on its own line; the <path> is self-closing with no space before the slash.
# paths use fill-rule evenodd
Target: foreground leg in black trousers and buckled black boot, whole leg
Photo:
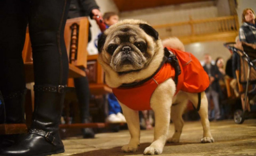
<path id="1" fill-rule="evenodd" d="M 29 33 L 33 52 L 35 104 L 27 136 L 0 155 L 32 156 L 64 152 L 59 123 L 68 76 L 64 27 L 69 0 L 29 2 Z"/>

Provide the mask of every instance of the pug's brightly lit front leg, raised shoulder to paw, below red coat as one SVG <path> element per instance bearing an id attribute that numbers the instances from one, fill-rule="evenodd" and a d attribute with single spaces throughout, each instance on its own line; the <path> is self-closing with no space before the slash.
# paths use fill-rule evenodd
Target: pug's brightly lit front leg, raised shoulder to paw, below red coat
<path id="1" fill-rule="evenodd" d="M 170 124 L 170 108 L 174 92 L 175 83 L 172 79 L 168 79 L 157 87 L 151 97 L 150 106 L 155 113 L 154 141 L 144 150 L 145 155 L 163 152 Z"/>

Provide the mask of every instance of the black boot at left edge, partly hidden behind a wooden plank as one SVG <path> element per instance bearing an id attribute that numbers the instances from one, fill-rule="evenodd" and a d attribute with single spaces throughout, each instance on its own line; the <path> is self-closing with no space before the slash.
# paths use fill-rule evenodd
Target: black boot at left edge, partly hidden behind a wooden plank
<path id="1" fill-rule="evenodd" d="M 3 119 L 1 123 L 25 123 L 24 103 L 26 90 L 24 89 L 3 96 L 0 94 L 0 100 L 2 102 L 1 109 L 4 111 L 0 117 Z M 0 148 L 12 146 L 21 136 L 22 134 L 0 135 Z"/>

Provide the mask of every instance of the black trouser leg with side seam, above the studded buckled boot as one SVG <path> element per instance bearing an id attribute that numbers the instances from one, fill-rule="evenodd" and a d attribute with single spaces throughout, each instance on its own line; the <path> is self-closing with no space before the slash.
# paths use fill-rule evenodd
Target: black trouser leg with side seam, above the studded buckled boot
<path id="1" fill-rule="evenodd" d="M 68 57 L 64 28 L 70 0 L 32 0 L 29 34 L 36 85 L 66 85 Z"/>

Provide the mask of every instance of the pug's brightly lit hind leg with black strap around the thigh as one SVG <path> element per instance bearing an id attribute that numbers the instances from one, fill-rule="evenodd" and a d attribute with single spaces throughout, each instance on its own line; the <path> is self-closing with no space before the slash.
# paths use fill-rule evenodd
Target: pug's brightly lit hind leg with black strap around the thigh
<path id="1" fill-rule="evenodd" d="M 195 108 L 197 108 L 199 96 L 196 93 L 187 93 L 188 99 L 193 103 Z M 204 134 L 203 138 L 201 139 L 201 143 L 212 143 L 214 142 L 214 139 L 212 137 L 212 134 L 210 132 L 210 122 L 208 119 L 208 101 L 205 92 L 201 93 L 201 106 L 198 111 L 201 123 L 203 126 Z"/>

